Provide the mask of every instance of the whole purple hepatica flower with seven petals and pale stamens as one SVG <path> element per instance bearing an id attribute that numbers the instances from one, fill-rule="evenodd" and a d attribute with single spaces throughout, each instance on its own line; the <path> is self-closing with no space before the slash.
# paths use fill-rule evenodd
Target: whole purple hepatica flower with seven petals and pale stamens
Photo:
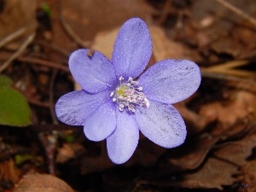
<path id="1" fill-rule="evenodd" d="M 139 131 L 164 148 L 181 145 L 187 134 L 172 103 L 198 89 L 200 69 L 192 61 L 164 60 L 143 73 L 151 54 L 148 27 L 133 18 L 119 30 L 112 61 L 90 49 L 74 51 L 68 61 L 82 90 L 61 96 L 57 117 L 68 125 L 83 125 L 91 141 L 107 139 L 108 156 L 116 164 L 131 158 Z"/>

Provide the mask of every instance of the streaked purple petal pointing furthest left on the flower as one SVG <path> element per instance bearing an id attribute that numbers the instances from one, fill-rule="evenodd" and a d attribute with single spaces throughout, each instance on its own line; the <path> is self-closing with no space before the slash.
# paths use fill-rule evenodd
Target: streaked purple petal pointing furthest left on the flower
<path id="1" fill-rule="evenodd" d="M 58 100 L 55 112 L 61 122 L 68 125 L 84 125 L 96 108 L 109 99 L 110 91 L 89 94 L 84 90 L 67 93 Z"/>

